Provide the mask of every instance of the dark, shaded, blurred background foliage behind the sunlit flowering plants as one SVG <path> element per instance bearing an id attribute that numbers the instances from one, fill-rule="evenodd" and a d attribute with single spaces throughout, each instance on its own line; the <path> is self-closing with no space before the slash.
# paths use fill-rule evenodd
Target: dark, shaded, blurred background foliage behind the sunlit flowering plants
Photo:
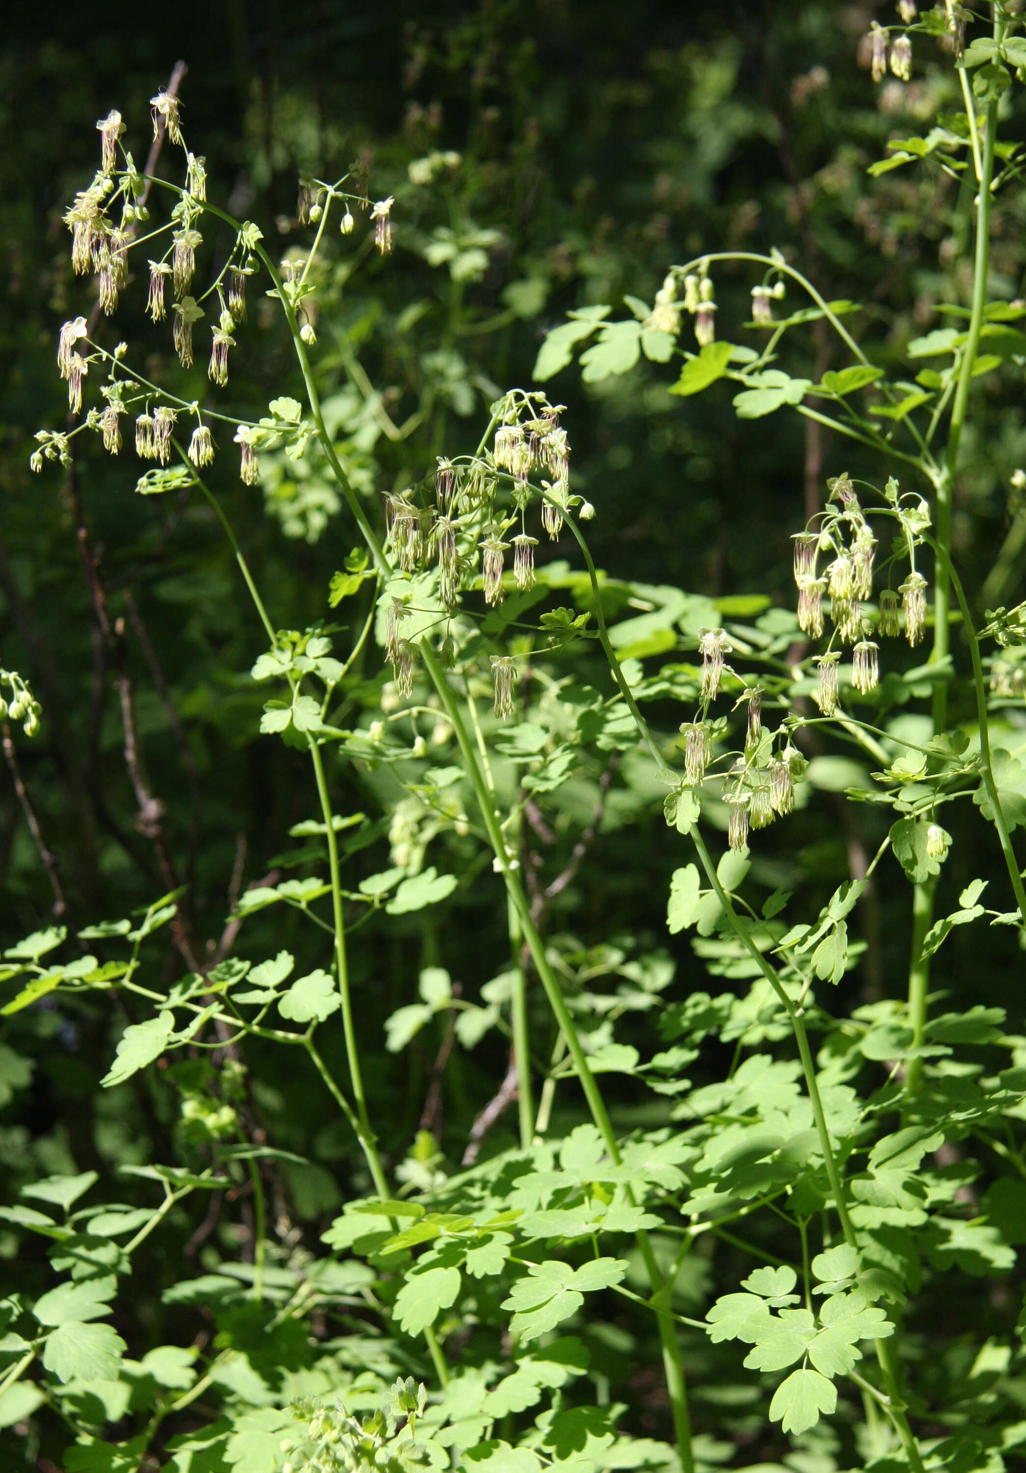
<path id="1" fill-rule="evenodd" d="M 889 10 L 832 0 L 715 7 L 652 0 L 629 7 L 606 0 L 296 0 L 281 7 L 275 0 L 224 0 L 183 3 L 174 24 L 159 25 L 141 15 L 91 15 L 84 29 L 82 16 L 68 9 L 47 16 L 40 34 L 31 16 L 15 19 L 0 57 L 4 131 L 15 140 L 0 161 L 3 663 L 31 678 L 46 713 L 41 735 L 26 742 L 16 734 L 15 747 L 44 846 L 56 857 L 59 919 L 72 932 L 97 918 L 128 915 L 185 881 L 178 941 L 194 957 L 219 960 L 234 943 L 227 918 L 246 887 L 312 872 L 305 840 L 290 847 L 286 835 L 315 816 L 303 754 L 258 734 L 265 692 L 249 670 L 263 636 L 206 504 L 188 495 L 159 502 L 132 496 L 124 457 L 109 460 L 96 445 L 66 474 L 50 470 L 37 479 L 28 470 L 32 432 L 59 429 L 66 411 L 53 374 L 56 330 L 88 312 L 60 215 L 94 169 L 93 119 L 118 106 L 143 138 L 147 99 L 181 53 L 188 62 L 184 118 L 190 141 L 206 153 L 210 194 L 256 219 L 272 255 L 299 250 L 306 239 L 296 221 L 300 171 L 333 178 L 356 159 L 371 172 L 372 197 L 395 194 L 393 258 L 380 261 L 358 242 L 359 268 L 353 252 L 337 252 L 318 283 L 325 412 L 371 505 L 375 492 L 425 476 L 436 455 L 471 452 L 490 401 L 509 384 L 530 384 L 545 333 L 568 309 L 612 302 L 620 317 L 626 293 L 651 302 L 673 262 L 707 249 L 780 247 L 824 296 L 866 303 L 860 333 L 873 334 L 885 365 L 888 354 L 896 364 L 910 339 L 942 323 L 938 302 L 966 302 L 972 268 L 958 184 L 924 171 L 866 172 L 889 137 L 916 133 L 938 105 L 955 106 L 955 84 L 941 65 L 910 87 L 891 81 L 873 88 L 860 37 L 874 16 L 889 22 Z M 1005 119 L 1004 136 L 1020 131 L 1022 110 Z M 434 161 L 430 178 L 415 183 L 411 164 L 424 159 Z M 1023 295 L 1022 199 L 1020 190 L 1008 190 L 994 219 L 992 290 L 1005 299 Z M 746 318 L 749 287 L 748 274 L 723 271 L 721 320 Z M 274 393 L 296 392 L 291 343 L 265 311 L 269 305 L 250 302 L 252 328 L 236 351 L 230 395 L 243 417 L 266 412 Z M 118 320 L 119 336 L 140 336 L 140 306 L 135 292 Z M 113 342 L 110 334 L 107 346 Z M 190 389 L 169 351 L 149 351 L 150 377 L 177 382 L 185 396 L 203 392 L 202 371 Z M 798 354 L 804 361 L 789 362 L 790 371 L 814 382 L 836 365 L 836 348 L 818 326 L 799 340 Z M 665 608 L 667 589 L 718 600 L 721 617 L 742 622 L 767 604 L 792 607 L 792 532 L 821 504 L 827 476 L 867 473 L 870 463 L 860 448 L 796 415 L 745 423 L 729 395 L 673 398 L 670 382 L 658 364 L 643 364 L 592 383 L 573 368 L 548 384 L 567 405 L 574 489 L 598 511 L 593 555 L 623 580 L 606 616 Z M 1026 523 L 1013 473 L 1025 458 L 1022 384 L 988 380 L 967 430 L 954 508 L 955 561 L 969 586 L 985 586 L 977 613 L 1022 595 Z M 262 464 L 255 488 L 238 483 L 231 454 L 210 479 L 274 601 L 275 622 L 303 629 L 325 617 L 325 589 L 356 538 L 328 482 L 284 455 Z M 564 554 L 562 546 L 539 548 L 539 563 Z M 746 601 L 754 591 L 763 598 Z M 339 622 L 347 619 L 356 616 L 343 604 Z M 665 626 L 657 617 L 639 629 L 637 653 L 658 650 Z M 654 630 L 657 645 L 646 650 Z M 598 679 L 587 648 L 576 660 L 581 681 Z M 122 723 L 128 694 L 140 747 L 134 772 Z M 919 700 L 919 711 L 927 694 L 913 683 L 902 700 Z M 380 682 L 356 685 L 353 722 L 377 713 L 380 700 Z M 954 711 L 955 719 L 963 714 Z M 910 716 L 916 719 L 923 720 Z M 428 747 L 439 720 L 421 723 Z M 1001 720 L 1014 754 L 1022 744 L 1017 698 Z M 743 971 L 732 977 L 726 968 L 724 982 L 714 955 L 707 952 L 704 965 L 682 935 L 667 932 L 665 894 L 680 856 L 662 820 L 662 792 L 630 753 L 618 756 L 621 745 L 629 744 L 614 732 L 604 762 L 587 763 L 564 790 L 559 823 L 530 840 L 540 882 L 559 879 L 543 906 L 543 927 L 564 959 L 568 987 L 587 1003 L 593 978 L 599 991 L 614 993 L 624 963 L 665 952 L 676 963 L 667 999 L 724 985 L 743 994 Z M 866 872 L 891 819 L 843 800 L 845 788 L 871 787 L 870 764 L 857 753 L 817 748 L 813 738 L 807 756 L 810 801 L 789 820 L 786 840 L 773 831 L 758 846 L 752 878 L 793 891 L 804 912 L 816 915 L 839 882 Z M 387 767 L 339 764 L 331 782 L 342 813 L 377 818 L 396 798 Z M 1008 787 L 1016 788 L 1014 776 Z M 159 804 L 149 819 L 146 798 Z M 480 846 L 447 834 L 422 850 L 431 841 L 424 816 L 415 825 L 409 819 L 409 810 L 393 816 L 392 832 L 387 822 L 378 825 L 353 860 L 355 876 L 390 863 L 414 871 L 437 863 L 465 878 L 439 907 L 389 918 L 387 925 L 371 919 L 353 937 L 350 971 L 383 1155 L 393 1168 L 406 1161 L 409 1181 L 430 1184 L 442 1165 L 455 1170 L 464 1158 L 481 1105 L 506 1071 L 508 1046 L 493 1031 L 473 1050 L 453 1047 L 452 1015 L 439 1006 L 427 1021 L 406 1019 L 411 1033 L 417 1021 L 422 1027 L 399 1052 L 399 1025 L 386 1047 L 384 1019 L 415 1003 L 418 977 L 431 1003 L 437 968 L 461 996 L 480 1002 L 481 985 L 508 971 L 511 956 L 505 896 L 498 876 L 477 862 Z M 1005 882 L 997 847 L 963 840 L 961 823 L 961 816 L 948 822 L 955 843 L 941 881 L 942 915 L 974 876 L 995 888 Z M 581 834 L 587 843 L 577 854 Z M 886 878 L 880 871 L 867 884 L 849 922 L 864 950 L 839 984 L 839 1012 L 904 993 L 908 890 L 895 862 L 888 863 Z M 12 782 L 0 795 L 0 929 L 9 943 L 53 922 L 52 881 Z M 165 934 L 169 984 L 183 959 L 181 944 L 175 949 Z M 244 955 L 281 949 L 303 971 L 318 965 L 296 913 L 277 906 L 246 922 Z M 1011 928 L 988 934 L 988 957 L 983 994 L 974 932 L 955 931 L 935 985 L 952 1012 L 974 1002 L 1007 1008 L 1014 1030 L 1022 1024 L 1020 950 Z M 531 1008 L 539 1037 L 551 1046 L 543 1000 L 533 997 Z M 96 1171 L 115 1183 L 116 1199 L 134 1203 L 134 1187 L 115 1175 L 118 1168 L 172 1159 L 199 1168 L 218 1139 L 212 1115 L 224 1105 L 238 1109 L 250 1140 L 272 1140 L 306 1162 L 266 1165 L 268 1211 L 283 1262 L 297 1249 L 316 1251 L 342 1202 L 369 1190 L 327 1093 L 318 1093 L 305 1068 L 283 1064 L 281 1050 L 259 1047 L 246 1056 L 249 1078 L 237 1097 L 213 1091 L 200 1061 L 102 1091 L 113 1046 L 131 1021 L 106 1002 L 44 1006 L 9 1021 L 0 1043 L 7 1200 L 40 1177 Z M 651 1034 L 642 1008 L 617 1022 L 617 1038 L 645 1052 Z M 340 1040 L 325 1052 L 342 1069 Z M 717 1043 L 695 1065 L 702 1072 L 693 1083 L 718 1080 L 729 1065 L 730 1047 Z M 609 1077 L 605 1089 L 623 1128 L 664 1119 L 636 1077 Z M 561 1089 L 553 1137 L 583 1118 L 577 1093 Z M 515 1105 L 486 1139 L 486 1155 L 515 1143 Z M 955 1149 L 947 1165 L 957 1159 Z M 760 1231 L 773 1255 L 771 1227 Z M 165 1290 L 188 1271 L 252 1262 L 253 1236 L 243 1174 L 209 1212 L 206 1200 L 197 1206 L 193 1198 L 169 1214 L 162 1233 L 140 1249 L 132 1299 L 118 1307 L 115 1323 L 128 1345 L 188 1343 L 196 1311 L 174 1296 L 168 1302 Z M 49 1287 L 44 1246 L 15 1224 L 0 1233 L 0 1271 L 10 1287 Z M 714 1293 L 751 1265 L 742 1248 L 710 1234 L 687 1261 L 680 1312 L 704 1315 Z M 979 1343 L 1007 1326 L 1013 1301 L 1017 1290 L 1007 1274 L 982 1282 L 972 1273 L 947 1276 L 908 1330 L 910 1354 L 926 1364 L 942 1327 L 948 1363 L 936 1376 L 967 1376 Z M 247 1343 L 244 1326 L 225 1330 L 209 1312 L 205 1333 L 234 1333 Z M 651 1327 L 611 1317 L 589 1349 L 599 1396 L 602 1385 L 606 1399 L 615 1385 L 634 1432 L 668 1438 Z M 758 1376 L 739 1373 L 733 1354 L 718 1361 L 723 1348 L 710 1346 L 701 1332 L 684 1354 L 708 1461 L 737 1455 L 739 1466 L 749 1466 L 786 1455 L 795 1473 L 848 1466 L 851 1448 L 841 1451 L 835 1435 L 789 1452 L 779 1427 L 765 1421 Z M 299 1365 L 302 1352 L 296 1355 Z M 986 1374 L 985 1365 L 979 1376 Z M 1014 1395 L 1022 1404 L 1022 1393 Z M 121 1417 L 109 1421 L 118 1426 Z M 68 1435 L 43 1426 L 43 1442 L 32 1435 L 28 1458 L 50 1470 L 62 1466 Z M 944 1432 L 938 1427 L 936 1436 Z M 16 1466 L 25 1441 L 16 1427 L 0 1439 Z M 197 1455 L 193 1469 L 202 1466 Z"/>

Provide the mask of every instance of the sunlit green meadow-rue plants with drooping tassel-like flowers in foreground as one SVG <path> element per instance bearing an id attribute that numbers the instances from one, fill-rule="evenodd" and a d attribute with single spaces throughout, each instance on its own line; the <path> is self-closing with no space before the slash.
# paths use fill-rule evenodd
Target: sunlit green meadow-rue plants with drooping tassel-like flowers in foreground
<path id="1" fill-rule="evenodd" d="M 135 491 L 191 496 L 216 517 L 265 641 L 238 679 L 265 694 L 259 729 L 294 754 L 290 770 L 306 781 L 316 816 L 291 828 L 311 850 L 275 859 L 249 890 L 234 887 L 219 950 L 190 941 L 175 884 L 141 915 L 82 928 L 78 950 L 54 927 L 4 953 L 3 1016 L 41 999 L 100 1008 L 116 994 L 122 1031 L 105 1087 L 144 1090 L 152 1080 L 155 1091 L 181 1096 L 174 1130 L 156 1109 L 153 1127 L 181 1159 L 131 1168 L 153 1192 L 147 1205 L 77 1208 L 96 1183 L 84 1173 L 26 1189 L 46 1211 L 3 1209 L 4 1221 L 52 1245 L 59 1279 L 32 1302 L 15 1293 L 0 1304 L 0 1410 L 21 1386 L 26 1399 L 12 1405 L 22 1420 L 60 1418 L 74 1438 L 68 1469 L 128 1473 L 163 1458 L 183 1473 L 695 1473 L 737 1451 L 692 1426 L 696 1407 L 705 1417 L 729 1402 L 755 1408 L 751 1439 L 776 1439 L 783 1466 L 798 1473 L 833 1470 L 838 1460 L 882 1473 L 991 1473 L 1023 1444 L 1022 1388 L 1005 1377 L 1022 1357 L 1019 1296 L 1001 1280 L 991 1304 L 1000 1329 L 979 1345 L 960 1342 L 957 1395 L 954 1377 L 942 1385 L 935 1371 L 916 1315 L 920 1295 L 936 1283 L 944 1293 L 948 1273 L 998 1282 L 1023 1242 L 1026 1041 L 1004 1031 L 986 977 L 979 1003 L 939 1012 L 930 965 L 955 928 L 1022 937 L 1026 925 L 1011 840 L 1023 820 L 1014 759 L 991 742 L 994 701 L 1022 692 L 1026 611 L 995 608 L 980 625 L 952 555 L 973 384 L 1005 358 L 1020 368 L 1026 348 L 1007 327 L 1026 306 L 994 300 L 988 273 L 994 200 L 1020 172 L 998 128 L 1001 99 L 1026 69 L 1026 35 L 1010 4 L 995 4 L 991 34 L 972 38 L 966 27 L 979 16 L 954 3 L 920 15 L 899 0 L 896 13 L 901 28 L 871 22 L 873 81 L 889 68 L 908 82 L 917 47 L 941 38 L 948 50 L 932 52 L 930 65 L 941 55 L 954 66 L 964 110 L 895 144 L 871 169 L 935 158 L 961 181 L 974 234 L 972 305 L 949 303 L 951 326 L 908 345 L 910 367 L 894 343 L 874 339 L 871 317 L 858 339 L 845 326 L 854 303 L 827 302 L 782 250 L 723 250 L 674 267 L 651 306 L 627 299 L 631 318 L 596 303 L 577 311 L 549 331 L 536 370 L 543 383 L 580 349 L 584 380 L 595 383 L 633 371 L 643 354 L 654 373 L 673 365 L 671 395 L 730 386 L 739 420 L 796 412 L 879 457 L 876 479 L 820 477 L 818 505 L 795 516 L 793 608 L 620 583 L 596 569 L 581 523 L 601 517 L 602 491 L 587 488 L 595 505 L 579 495 L 567 409 L 540 387 L 498 393 L 471 452 L 436 443 L 409 482 L 381 495 L 358 485 L 309 349 L 319 346 L 330 252 L 364 249 L 349 239 L 356 215 L 365 253 L 371 236 L 381 258 L 403 246 L 399 186 L 369 205 L 359 171 L 334 181 L 303 174 L 296 218 L 309 240 L 275 264 L 261 230 L 215 197 L 203 158 L 185 144 L 177 96 L 158 93 L 152 116 L 155 136 L 181 150 L 181 183 L 143 180 L 118 112 L 97 124 L 100 171 L 65 217 L 72 268 L 96 277 L 105 314 L 132 292 L 141 314 L 149 290 L 147 331 L 174 345 L 183 370 L 193 365 L 194 326 L 209 315 L 206 377 L 200 361 L 187 380 L 205 396 L 150 382 L 146 339 L 110 351 L 90 326 L 99 314 L 75 317 L 59 331 L 57 367 L 72 414 L 85 418 L 66 433 L 40 432 L 32 468 L 65 463 L 68 443 L 90 430 L 116 455 L 130 415 L 137 457 L 155 463 Z M 929 122 L 926 103 L 923 112 Z M 427 189 L 456 166 L 433 158 L 411 166 L 403 189 Z M 153 221 L 143 240 L 130 227 L 144 184 Z M 328 221 L 340 227 L 331 237 Z M 143 246 L 158 252 L 156 237 L 166 252 L 149 261 L 144 287 L 146 273 L 134 280 L 130 262 Z M 456 250 L 445 236 L 434 245 L 440 258 Z M 400 258 L 397 249 L 375 268 L 397 271 Z M 461 270 L 473 271 L 473 258 Z M 739 273 L 737 298 L 729 286 Z M 802 298 L 786 317 L 773 309 L 785 283 Z M 234 389 L 234 364 L 259 348 L 247 286 L 281 315 L 294 370 L 266 414 L 244 417 L 221 390 L 230 354 Z M 818 382 L 783 367 L 807 361 L 810 324 L 833 334 L 841 364 L 817 370 Z M 733 340 L 746 327 L 757 346 Z M 985 352 L 989 342 L 1004 343 L 1004 358 Z M 941 367 L 917 368 L 926 359 Z M 383 412 L 372 386 L 367 401 Z M 208 420 L 221 426 L 221 443 L 236 427 L 246 488 L 284 461 L 297 485 L 315 470 L 356 529 L 359 544 L 339 558 L 330 588 L 311 591 L 315 622 L 305 629 L 277 626 L 274 582 L 258 586 L 205 479 L 215 458 Z M 536 561 L 539 529 L 551 542 L 568 533 L 558 561 L 552 548 L 552 561 Z M 340 607 L 340 622 L 328 623 Z M 624 608 L 636 613 L 611 622 Z M 895 638 L 902 629 L 913 650 L 932 639 L 927 661 L 908 663 Z M 1001 651 L 989 681 L 983 641 Z M 16 722 L 31 736 L 41 713 L 28 685 L 3 670 L 0 686 L 4 734 Z M 159 844 L 160 804 L 131 742 L 124 672 L 119 697 L 137 826 Z M 913 703 L 929 707 L 914 723 L 902 719 Z M 874 764 L 868 785 L 833 782 L 839 826 L 855 822 L 849 800 L 851 812 L 886 813 L 888 826 L 861 872 L 810 913 L 779 882 L 764 831 L 795 832 L 813 764 L 830 760 L 827 739 Z M 835 773 L 851 776 L 848 763 Z M 359 772 L 367 807 L 378 812 L 336 812 L 339 764 Z M 595 812 L 581 807 L 589 790 L 574 787 L 586 767 L 599 775 Z M 674 963 L 652 938 L 617 935 L 589 949 L 568 928 L 545 929 L 553 903 L 561 916 L 586 903 L 579 865 L 630 791 L 662 801 L 665 840 L 680 857 L 667 931 L 693 932 L 695 956 L 724 981 L 718 991 L 687 980 L 673 987 Z M 941 866 L 954 866 L 963 848 L 944 826 L 960 812 L 949 804 L 976 823 L 979 844 L 1000 851 L 1007 894 L 994 909 L 982 903 L 985 882 L 972 879 L 957 909 L 935 915 Z M 562 835 L 573 840 L 570 859 L 548 875 L 542 846 Z M 356 856 L 375 843 L 390 863 L 359 878 Z M 443 854 L 453 872 L 439 872 Z M 303 866 L 312 873 L 281 878 Z M 843 1015 L 830 990 L 858 960 L 852 913 L 885 866 L 895 884 L 910 882 L 905 996 L 874 996 Z M 446 969 L 447 921 L 436 919 L 478 875 L 502 897 L 509 943 L 480 1002 Z M 243 955 L 255 950 L 252 918 L 271 907 L 315 934 L 319 962 L 303 975 L 284 944 Z M 397 972 L 403 999 L 381 1016 L 384 1047 L 402 1055 L 433 1024 L 443 1041 L 424 1119 L 396 1159 L 381 1147 L 365 1083 L 356 1021 L 377 1005 L 368 1009 L 358 990 L 349 938 L 371 921 L 400 938 L 417 912 L 425 929 L 415 977 L 409 952 L 381 943 L 380 965 Z M 183 977 L 155 959 L 150 937 L 163 927 L 187 963 Z M 617 1037 L 626 1018 L 651 1022 L 648 1058 Z M 450 1161 L 434 1131 L 442 1077 L 489 1034 L 502 1038 L 506 1077 L 480 1102 L 462 1162 Z M 306 1164 L 287 1134 L 269 1142 L 253 1125 L 250 1050 L 299 1059 L 305 1087 L 337 1112 L 331 1130 L 359 1152 L 349 1196 L 331 1206 L 316 1243 L 293 1236 L 287 1212 L 286 1168 Z M 699 1059 L 717 1077 L 695 1087 L 689 1071 Z M 604 1090 L 611 1074 L 637 1084 L 623 1118 Z M 587 1118 L 559 1134 L 556 1096 L 571 1090 Z M 483 1153 L 512 1103 L 515 1145 Z M 119 1312 L 132 1255 L 209 1193 L 236 1202 L 243 1192 L 252 1255 L 218 1256 L 208 1276 L 165 1292 L 177 1309 L 205 1307 L 215 1333 L 147 1346 L 149 1324 Z M 752 1259 L 743 1277 L 718 1273 L 720 1245 Z M 116 1329 L 106 1323 L 115 1315 Z M 643 1380 L 634 1395 L 627 1364 L 639 1345 L 652 1364 L 634 1368 Z M 754 1374 L 730 1380 L 735 1363 Z M 630 1399 L 614 1399 L 614 1382 L 617 1398 L 623 1389 Z M 97 1432 L 90 1399 L 103 1404 L 113 1439 Z M 665 1436 L 648 1435 L 646 1399 L 662 1408 Z"/>

